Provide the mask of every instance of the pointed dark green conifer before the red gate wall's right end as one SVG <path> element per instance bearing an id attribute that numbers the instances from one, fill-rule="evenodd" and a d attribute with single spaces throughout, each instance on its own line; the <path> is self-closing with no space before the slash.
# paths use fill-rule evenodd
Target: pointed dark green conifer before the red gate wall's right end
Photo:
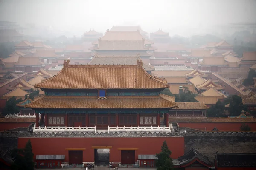
<path id="1" fill-rule="evenodd" d="M 170 155 L 172 152 L 169 150 L 166 141 L 163 142 L 161 152 L 156 154 L 156 167 L 157 170 L 172 170 L 173 163 Z"/>

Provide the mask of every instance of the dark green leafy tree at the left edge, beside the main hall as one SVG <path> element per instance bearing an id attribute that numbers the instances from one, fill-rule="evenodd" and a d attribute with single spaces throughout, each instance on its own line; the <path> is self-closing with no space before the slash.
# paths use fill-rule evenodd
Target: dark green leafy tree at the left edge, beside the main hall
<path id="1" fill-rule="evenodd" d="M 22 102 L 22 99 L 17 99 L 15 96 L 12 96 L 7 100 L 5 107 L 3 108 L 3 116 L 7 114 L 17 114 L 20 112 L 20 108 L 17 106 L 18 103 Z"/>

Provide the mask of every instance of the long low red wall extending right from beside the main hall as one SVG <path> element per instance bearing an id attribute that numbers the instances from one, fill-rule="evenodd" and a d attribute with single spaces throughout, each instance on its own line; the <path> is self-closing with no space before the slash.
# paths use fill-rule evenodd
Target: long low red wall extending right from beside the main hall
<path id="1" fill-rule="evenodd" d="M 244 118 L 246 119 L 246 118 Z M 190 127 L 193 129 L 200 129 L 210 131 L 216 127 L 219 131 L 240 131 L 242 122 L 180 122 L 178 123 L 180 127 Z M 256 123 L 254 122 L 244 122 L 245 125 L 249 125 L 252 131 L 256 131 Z"/>

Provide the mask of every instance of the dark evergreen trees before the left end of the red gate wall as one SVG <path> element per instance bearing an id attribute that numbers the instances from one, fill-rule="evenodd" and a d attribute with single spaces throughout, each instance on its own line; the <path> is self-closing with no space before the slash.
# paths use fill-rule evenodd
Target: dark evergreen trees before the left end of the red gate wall
<path id="1" fill-rule="evenodd" d="M 34 153 L 32 152 L 32 145 L 29 141 L 23 149 L 12 150 L 12 169 L 13 170 L 34 170 Z"/>

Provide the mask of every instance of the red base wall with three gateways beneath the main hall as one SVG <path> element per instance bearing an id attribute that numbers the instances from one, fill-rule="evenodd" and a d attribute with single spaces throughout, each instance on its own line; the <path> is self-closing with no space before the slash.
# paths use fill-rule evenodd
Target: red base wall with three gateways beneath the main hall
<path id="1" fill-rule="evenodd" d="M 184 137 L 113 137 L 113 138 L 19 138 L 18 148 L 23 148 L 30 139 L 34 157 L 36 155 L 65 155 L 68 162 L 68 149 L 80 148 L 83 151 L 83 162 L 94 162 L 92 146 L 111 146 L 110 162 L 121 162 L 121 150 L 118 148 L 135 148 L 135 161 L 140 154 L 156 154 L 161 151 L 163 141 L 166 140 L 172 151 L 172 158 L 184 155 Z"/>

